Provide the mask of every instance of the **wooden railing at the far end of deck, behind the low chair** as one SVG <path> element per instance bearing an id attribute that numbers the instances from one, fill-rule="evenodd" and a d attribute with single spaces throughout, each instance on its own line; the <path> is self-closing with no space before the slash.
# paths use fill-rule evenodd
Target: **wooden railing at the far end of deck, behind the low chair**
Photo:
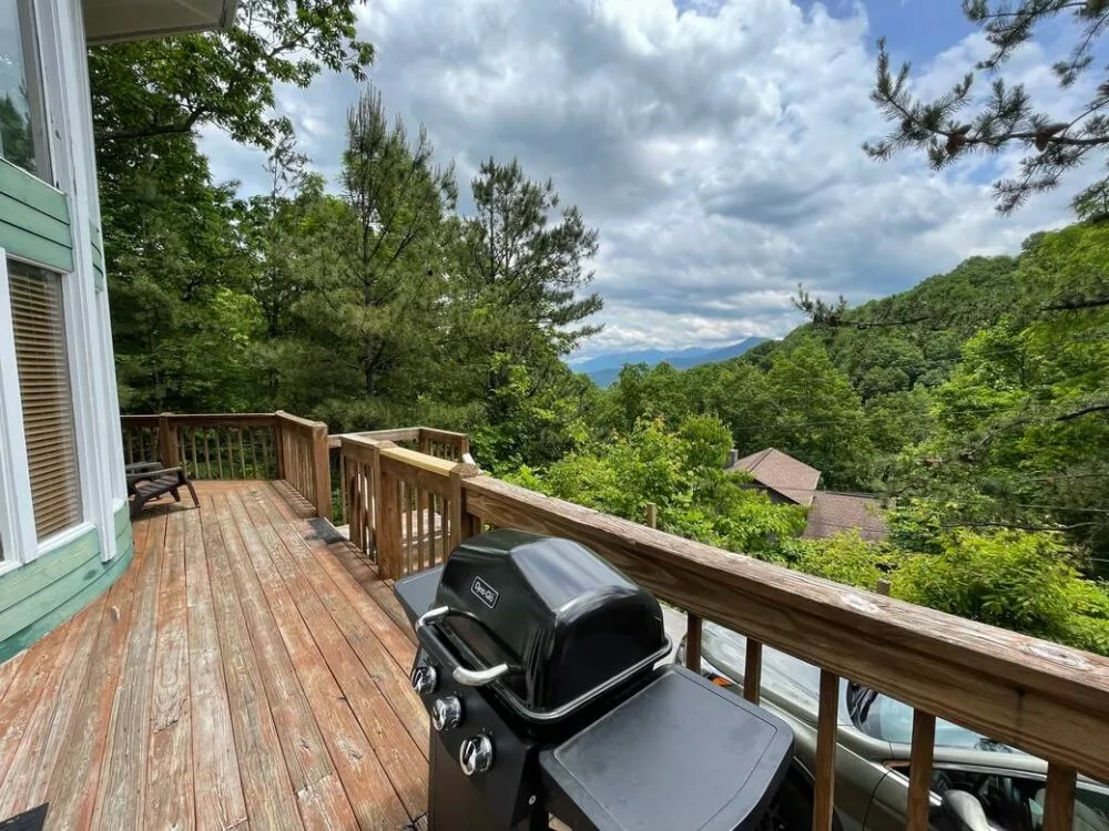
<path id="1" fill-rule="evenodd" d="M 193 479 L 283 479 L 332 516 L 327 425 L 285 412 L 122 416 L 128 464 L 160 461 Z"/>

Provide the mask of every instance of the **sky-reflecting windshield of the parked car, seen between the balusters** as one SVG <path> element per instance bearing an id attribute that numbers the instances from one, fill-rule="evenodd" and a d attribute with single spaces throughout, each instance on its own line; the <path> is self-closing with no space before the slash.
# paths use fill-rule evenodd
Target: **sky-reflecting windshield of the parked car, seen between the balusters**
<path id="1" fill-rule="evenodd" d="M 702 644 L 704 657 L 733 679 L 743 675 L 746 638 L 716 624 L 706 623 Z M 763 649 L 763 695 L 786 698 L 810 710 L 815 718 L 820 701 L 821 670 L 777 649 Z M 853 724 L 867 736 L 893 745 L 913 740 L 913 708 L 894 698 L 855 684 L 843 684 L 840 696 L 840 721 Z M 985 736 L 936 719 L 936 746 L 1020 752 Z"/>

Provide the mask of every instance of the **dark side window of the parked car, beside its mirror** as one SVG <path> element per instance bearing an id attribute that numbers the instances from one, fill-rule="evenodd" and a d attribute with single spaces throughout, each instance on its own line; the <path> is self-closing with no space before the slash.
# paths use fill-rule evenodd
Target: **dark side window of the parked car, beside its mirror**
<path id="1" fill-rule="evenodd" d="M 933 791 L 959 790 L 978 798 L 986 819 L 1000 831 L 1040 831 L 1044 827 L 1042 778 L 1006 771 L 938 766 Z M 1075 831 L 1109 831 L 1109 790 L 1080 782 L 1076 791 Z"/>

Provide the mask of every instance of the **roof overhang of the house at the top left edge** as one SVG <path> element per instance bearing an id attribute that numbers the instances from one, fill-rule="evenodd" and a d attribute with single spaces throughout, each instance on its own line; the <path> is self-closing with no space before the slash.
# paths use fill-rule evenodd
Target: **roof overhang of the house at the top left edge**
<path id="1" fill-rule="evenodd" d="M 227 29 L 237 0 L 82 0 L 89 45 Z"/>

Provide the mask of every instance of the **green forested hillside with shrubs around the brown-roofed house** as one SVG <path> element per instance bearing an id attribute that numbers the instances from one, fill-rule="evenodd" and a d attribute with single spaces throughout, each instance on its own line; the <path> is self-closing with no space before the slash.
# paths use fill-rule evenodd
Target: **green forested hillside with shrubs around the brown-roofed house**
<path id="1" fill-rule="evenodd" d="M 625 367 L 594 444 L 532 488 L 997 625 L 1109 652 L 1109 225 L 1029 238 L 742 358 Z M 796 540 L 803 509 L 721 484 L 777 448 L 875 494 L 892 533 Z M 798 525 L 798 523 L 801 523 Z M 792 530 L 791 530 L 792 529 Z"/>

